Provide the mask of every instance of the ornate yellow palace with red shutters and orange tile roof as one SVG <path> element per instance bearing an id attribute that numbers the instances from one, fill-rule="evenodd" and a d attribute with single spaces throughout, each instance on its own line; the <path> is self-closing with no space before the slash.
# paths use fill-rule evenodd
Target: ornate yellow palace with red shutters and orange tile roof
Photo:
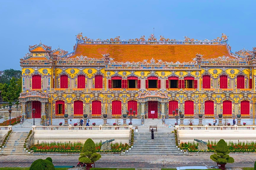
<path id="1" fill-rule="evenodd" d="M 74 51 L 42 44 L 20 59 L 22 114 L 33 118 L 254 118 L 256 48 L 231 52 L 214 40 L 146 38 L 92 40 L 76 36 Z M 170 116 L 170 117 L 169 117 Z"/>

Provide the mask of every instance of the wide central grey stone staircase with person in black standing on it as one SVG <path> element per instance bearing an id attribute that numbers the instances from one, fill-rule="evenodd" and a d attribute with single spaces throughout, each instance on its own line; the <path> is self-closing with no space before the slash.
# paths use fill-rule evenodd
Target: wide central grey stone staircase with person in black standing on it
<path id="1" fill-rule="evenodd" d="M 150 132 L 134 133 L 133 148 L 127 154 L 183 155 L 176 148 L 174 133 L 171 132 L 154 132 L 154 140 L 151 140 Z"/>

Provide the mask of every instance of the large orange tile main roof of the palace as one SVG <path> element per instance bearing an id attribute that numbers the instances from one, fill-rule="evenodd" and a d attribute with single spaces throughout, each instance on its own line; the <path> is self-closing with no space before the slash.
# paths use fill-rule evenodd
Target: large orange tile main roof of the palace
<path id="1" fill-rule="evenodd" d="M 190 44 L 78 44 L 75 55 L 90 58 L 101 58 L 101 54 L 110 54 L 114 61 L 138 62 L 144 59 L 161 59 L 167 62 L 188 62 L 196 54 L 204 55 L 203 58 L 230 56 L 226 45 L 190 45 Z M 230 56 L 232 57 L 232 56 Z"/>

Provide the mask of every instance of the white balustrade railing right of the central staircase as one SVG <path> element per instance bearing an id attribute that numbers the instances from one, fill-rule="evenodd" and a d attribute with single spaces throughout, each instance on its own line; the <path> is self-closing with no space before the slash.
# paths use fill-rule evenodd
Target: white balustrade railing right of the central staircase
<path id="1" fill-rule="evenodd" d="M 256 126 L 175 126 L 177 130 L 256 130 Z"/>

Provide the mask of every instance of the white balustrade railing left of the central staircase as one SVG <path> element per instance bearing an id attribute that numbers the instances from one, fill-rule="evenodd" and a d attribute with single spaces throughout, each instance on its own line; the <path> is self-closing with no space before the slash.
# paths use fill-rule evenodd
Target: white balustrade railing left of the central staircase
<path id="1" fill-rule="evenodd" d="M 130 130 L 132 126 L 32 126 L 32 130 Z"/>

